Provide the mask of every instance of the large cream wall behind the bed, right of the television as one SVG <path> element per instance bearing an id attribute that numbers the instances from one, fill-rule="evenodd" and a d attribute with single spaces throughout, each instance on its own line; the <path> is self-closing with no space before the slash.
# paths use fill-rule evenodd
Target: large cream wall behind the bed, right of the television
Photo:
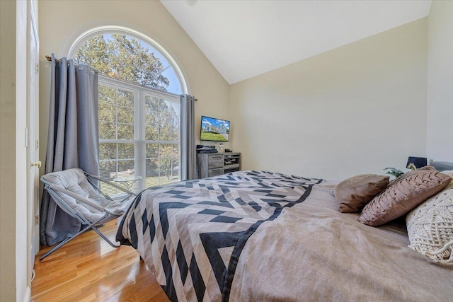
<path id="1" fill-rule="evenodd" d="M 423 18 L 230 88 L 246 169 L 341 180 L 426 153 Z"/>

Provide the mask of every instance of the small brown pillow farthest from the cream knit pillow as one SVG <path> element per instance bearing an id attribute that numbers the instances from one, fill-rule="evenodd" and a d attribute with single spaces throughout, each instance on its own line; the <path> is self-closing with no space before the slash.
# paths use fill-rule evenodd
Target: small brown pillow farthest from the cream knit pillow
<path id="1" fill-rule="evenodd" d="M 364 174 L 340 182 L 333 193 L 342 213 L 360 211 L 374 196 L 389 185 L 389 176 Z"/>

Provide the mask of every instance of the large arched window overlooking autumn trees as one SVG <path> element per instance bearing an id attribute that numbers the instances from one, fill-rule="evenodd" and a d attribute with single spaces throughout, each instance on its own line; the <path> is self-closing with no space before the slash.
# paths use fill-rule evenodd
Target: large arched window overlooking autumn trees
<path id="1" fill-rule="evenodd" d="M 100 74 L 101 177 L 136 190 L 179 181 L 179 95 L 186 86 L 178 66 L 151 39 L 124 30 L 91 33 L 74 45 L 74 61 Z"/>

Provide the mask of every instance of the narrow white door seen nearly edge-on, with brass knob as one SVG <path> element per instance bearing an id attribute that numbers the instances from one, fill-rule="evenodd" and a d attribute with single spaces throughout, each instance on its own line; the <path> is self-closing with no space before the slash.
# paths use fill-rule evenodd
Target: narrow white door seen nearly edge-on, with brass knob
<path id="1" fill-rule="evenodd" d="M 25 130 L 27 139 L 27 271 L 28 282 L 31 281 L 35 255 L 40 247 L 39 234 L 39 40 L 38 28 L 35 23 L 35 11 L 33 1 L 30 1 L 28 9 L 30 10 L 30 19 L 28 25 L 28 96 L 27 96 L 27 129 Z M 31 284 L 28 284 L 29 286 Z"/>

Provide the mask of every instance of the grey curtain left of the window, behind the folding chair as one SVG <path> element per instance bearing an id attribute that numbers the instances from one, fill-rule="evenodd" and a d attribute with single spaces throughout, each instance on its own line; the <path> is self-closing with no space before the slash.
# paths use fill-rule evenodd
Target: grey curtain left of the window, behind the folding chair
<path id="1" fill-rule="evenodd" d="M 49 132 L 45 173 L 81 168 L 99 175 L 98 72 L 59 61 L 52 54 Z M 44 191 L 40 207 L 40 242 L 54 245 L 80 231 L 81 223 L 66 214 Z"/>

